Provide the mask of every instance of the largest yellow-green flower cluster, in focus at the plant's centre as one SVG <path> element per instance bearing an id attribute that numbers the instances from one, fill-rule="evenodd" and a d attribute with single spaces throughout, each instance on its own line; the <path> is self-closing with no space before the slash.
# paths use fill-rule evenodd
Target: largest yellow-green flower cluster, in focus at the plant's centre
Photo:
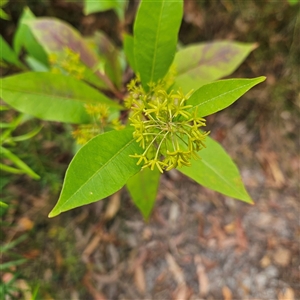
<path id="1" fill-rule="evenodd" d="M 144 149 L 137 164 L 142 168 L 155 167 L 163 173 L 173 168 L 190 166 L 192 158 L 205 147 L 209 132 L 200 131 L 205 119 L 197 116 L 197 110 L 186 101 L 192 91 L 184 95 L 181 91 L 167 93 L 163 83 L 151 84 L 145 92 L 135 79 L 128 84 L 129 96 L 125 105 L 132 109 L 129 118 L 134 127 L 134 138 Z"/>

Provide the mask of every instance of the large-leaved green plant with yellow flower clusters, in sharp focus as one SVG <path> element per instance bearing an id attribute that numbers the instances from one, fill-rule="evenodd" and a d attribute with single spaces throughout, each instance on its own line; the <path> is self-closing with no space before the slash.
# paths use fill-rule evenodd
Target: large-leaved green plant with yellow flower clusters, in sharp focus
<path id="1" fill-rule="evenodd" d="M 234 162 L 201 127 L 204 117 L 265 80 L 218 80 L 256 45 L 217 41 L 176 52 L 182 13 L 183 1 L 141 1 L 133 36 L 124 34 L 124 53 L 137 75 L 126 91 L 123 52 L 102 33 L 84 39 L 62 21 L 35 18 L 28 10 L 22 16 L 15 48 L 8 51 L 14 60 L 6 60 L 21 67 L 16 45 L 29 52 L 22 35 L 30 33 L 42 51 L 31 51 L 26 64 L 40 72 L 2 79 L 2 97 L 21 112 L 77 124 L 73 135 L 84 144 L 68 167 L 50 217 L 126 185 L 147 219 L 161 173 L 173 168 L 205 187 L 253 202 Z"/>

